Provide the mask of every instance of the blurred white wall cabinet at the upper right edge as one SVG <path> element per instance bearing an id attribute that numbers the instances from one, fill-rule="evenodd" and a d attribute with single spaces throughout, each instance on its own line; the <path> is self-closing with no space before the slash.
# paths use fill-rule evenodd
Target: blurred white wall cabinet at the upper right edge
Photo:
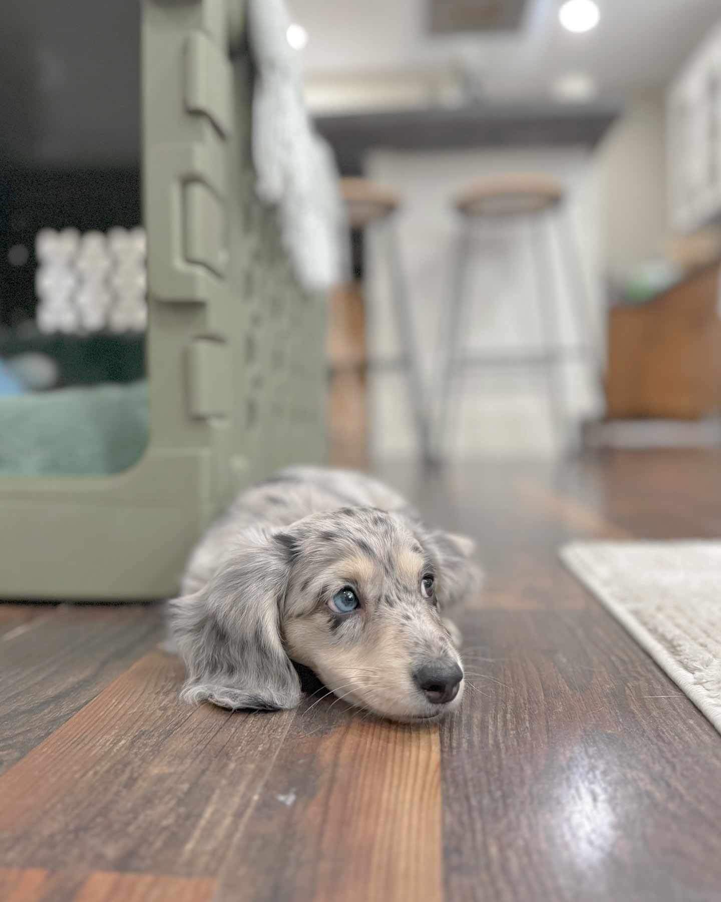
<path id="1" fill-rule="evenodd" d="M 668 129 L 673 228 L 721 221 L 721 26 L 671 87 Z"/>

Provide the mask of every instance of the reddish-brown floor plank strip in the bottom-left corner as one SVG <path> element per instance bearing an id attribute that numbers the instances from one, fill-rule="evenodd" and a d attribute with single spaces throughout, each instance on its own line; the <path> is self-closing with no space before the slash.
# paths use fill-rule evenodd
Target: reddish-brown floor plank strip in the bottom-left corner
<path id="1" fill-rule="evenodd" d="M 214 891 L 211 879 L 0 868 L 4 902 L 211 902 Z"/>

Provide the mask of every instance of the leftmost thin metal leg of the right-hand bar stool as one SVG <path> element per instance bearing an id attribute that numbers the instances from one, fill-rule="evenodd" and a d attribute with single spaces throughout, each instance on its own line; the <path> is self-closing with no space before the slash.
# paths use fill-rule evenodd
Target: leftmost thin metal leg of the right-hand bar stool
<path id="1" fill-rule="evenodd" d="M 448 450 L 446 433 L 452 422 L 452 382 L 458 366 L 458 354 L 461 350 L 461 322 L 465 308 L 466 278 L 470 260 L 470 231 L 470 225 L 463 223 L 456 245 L 451 298 L 445 314 L 445 328 L 441 337 L 440 375 L 434 405 L 434 451 L 438 460 L 443 460 L 444 452 Z"/>

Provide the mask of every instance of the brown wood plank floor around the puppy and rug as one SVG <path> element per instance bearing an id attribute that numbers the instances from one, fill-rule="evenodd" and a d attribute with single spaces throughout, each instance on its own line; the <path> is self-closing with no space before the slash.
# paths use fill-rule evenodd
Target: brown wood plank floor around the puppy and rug
<path id="1" fill-rule="evenodd" d="M 4 902 L 721 899 L 721 737 L 556 557 L 717 537 L 721 455 L 384 475 L 479 540 L 461 713 L 189 708 L 157 607 L 0 606 Z"/>

